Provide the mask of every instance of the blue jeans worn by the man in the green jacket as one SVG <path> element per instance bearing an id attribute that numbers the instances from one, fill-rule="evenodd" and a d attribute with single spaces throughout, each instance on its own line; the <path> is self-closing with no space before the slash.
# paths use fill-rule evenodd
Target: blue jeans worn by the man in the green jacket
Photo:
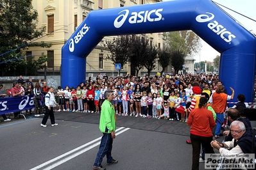
<path id="1" fill-rule="evenodd" d="M 113 139 L 111 134 L 103 133 L 101 137 L 101 144 L 99 144 L 99 151 L 97 153 L 94 166 L 101 166 L 101 162 L 105 155 L 107 155 L 107 163 L 112 162 L 113 158 L 111 156 Z"/>

